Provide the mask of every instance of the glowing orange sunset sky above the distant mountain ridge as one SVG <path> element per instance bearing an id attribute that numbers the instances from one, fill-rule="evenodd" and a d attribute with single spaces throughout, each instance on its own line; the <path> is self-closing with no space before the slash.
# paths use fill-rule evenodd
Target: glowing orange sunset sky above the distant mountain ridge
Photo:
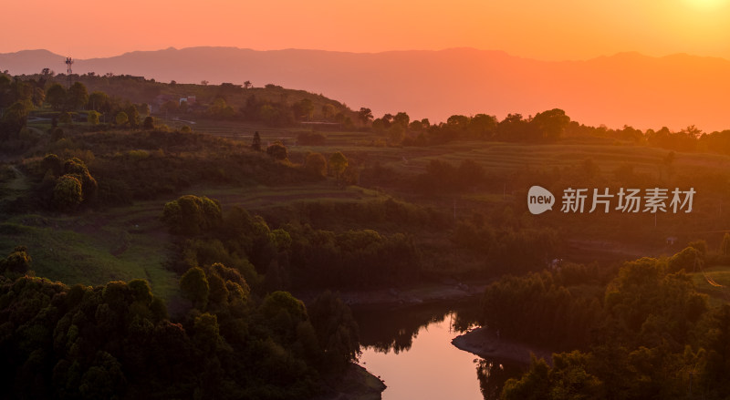
<path id="1" fill-rule="evenodd" d="M 169 46 L 730 59 L 730 0 L 24 0 L 5 2 L 3 14 L 0 53 L 45 48 L 78 59 Z"/>

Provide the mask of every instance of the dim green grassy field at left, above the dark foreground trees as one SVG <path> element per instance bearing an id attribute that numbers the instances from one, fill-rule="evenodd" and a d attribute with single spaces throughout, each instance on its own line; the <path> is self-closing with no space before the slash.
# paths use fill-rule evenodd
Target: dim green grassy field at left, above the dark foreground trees
<path id="1" fill-rule="evenodd" d="M 170 243 L 159 201 L 79 217 L 17 215 L 0 224 L 0 254 L 25 245 L 37 276 L 69 285 L 141 278 L 169 300 L 177 279 L 164 267 Z"/>

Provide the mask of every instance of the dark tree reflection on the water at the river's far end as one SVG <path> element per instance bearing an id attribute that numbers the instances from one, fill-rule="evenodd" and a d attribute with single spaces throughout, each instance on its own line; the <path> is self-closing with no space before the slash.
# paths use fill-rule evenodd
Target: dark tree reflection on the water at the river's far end
<path id="1" fill-rule="evenodd" d="M 478 307 L 468 304 L 454 307 L 452 304 L 427 304 L 391 309 L 354 310 L 360 326 L 360 344 L 373 347 L 379 353 L 411 349 L 413 339 L 422 328 L 431 323 L 451 320 L 454 333 L 464 332 L 476 321 Z"/>

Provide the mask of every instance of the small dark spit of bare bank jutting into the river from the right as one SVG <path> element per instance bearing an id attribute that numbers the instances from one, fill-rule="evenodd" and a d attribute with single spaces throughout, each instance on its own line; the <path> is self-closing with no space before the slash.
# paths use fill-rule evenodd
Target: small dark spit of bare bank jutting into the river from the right
<path id="1" fill-rule="evenodd" d="M 552 352 L 501 338 L 485 327 L 460 334 L 451 343 L 460 350 L 485 359 L 529 365 L 530 354 L 535 354 L 537 358 L 545 359 L 547 364 L 552 364 Z"/>

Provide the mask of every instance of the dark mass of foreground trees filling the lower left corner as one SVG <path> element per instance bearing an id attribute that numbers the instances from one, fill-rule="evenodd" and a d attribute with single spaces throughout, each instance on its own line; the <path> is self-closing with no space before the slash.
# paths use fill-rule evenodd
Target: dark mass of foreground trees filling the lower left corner
<path id="1" fill-rule="evenodd" d="M 194 267 L 180 282 L 189 311 L 172 321 L 146 281 L 69 287 L 33 277 L 26 251 L 0 261 L 9 398 L 305 398 L 359 354 L 331 292 L 305 307 L 288 292 L 257 296 L 223 264 Z"/>

